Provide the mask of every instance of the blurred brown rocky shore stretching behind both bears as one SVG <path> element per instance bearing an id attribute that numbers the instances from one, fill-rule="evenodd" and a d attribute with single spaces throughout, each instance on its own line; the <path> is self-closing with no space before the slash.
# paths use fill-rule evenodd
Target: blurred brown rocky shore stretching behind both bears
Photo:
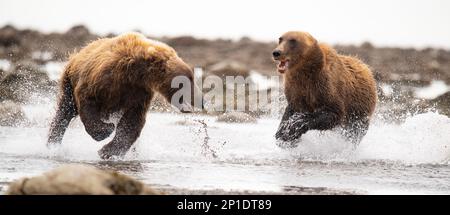
<path id="1" fill-rule="evenodd" d="M 94 34 L 84 26 L 74 26 L 64 33 L 42 33 L 10 25 L 1 27 L 0 111 L 11 110 L 12 104 L 35 102 L 35 95 L 55 98 L 59 72 L 69 54 L 99 37 L 112 36 L 114 34 Z M 187 63 L 202 68 L 206 75 L 246 77 L 251 72 L 278 75 L 270 55 L 276 45 L 274 42 L 259 42 L 247 37 L 239 40 L 208 40 L 191 36 L 154 39 L 174 47 Z M 387 114 L 391 115 L 428 109 L 450 114 L 449 50 L 375 47 L 369 42 L 334 47 L 340 53 L 357 56 L 370 65 L 378 82 L 380 112 L 385 111 L 383 107 L 389 107 Z M 431 92 L 431 96 L 417 93 L 417 90 L 434 86 L 436 81 L 442 85 L 438 93 Z M 4 107 L 4 102 L 8 107 Z M 151 110 L 170 111 L 170 106 L 157 99 Z M 250 114 L 260 116 L 264 113 Z M 3 116 L 6 115 L 0 113 L 0 116 L 5 118 Z M 12 124 L 4 119 L 0 122 Z"/>

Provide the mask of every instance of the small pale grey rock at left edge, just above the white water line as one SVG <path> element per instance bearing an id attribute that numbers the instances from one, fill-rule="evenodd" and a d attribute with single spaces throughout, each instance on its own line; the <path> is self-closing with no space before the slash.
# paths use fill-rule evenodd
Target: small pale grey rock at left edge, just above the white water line
<path id="1" fill-rule="evenodd" d="M 18 126 L 26 121 L 20 105 L 12 101 L 0 102 L 0 126 Z"/>

